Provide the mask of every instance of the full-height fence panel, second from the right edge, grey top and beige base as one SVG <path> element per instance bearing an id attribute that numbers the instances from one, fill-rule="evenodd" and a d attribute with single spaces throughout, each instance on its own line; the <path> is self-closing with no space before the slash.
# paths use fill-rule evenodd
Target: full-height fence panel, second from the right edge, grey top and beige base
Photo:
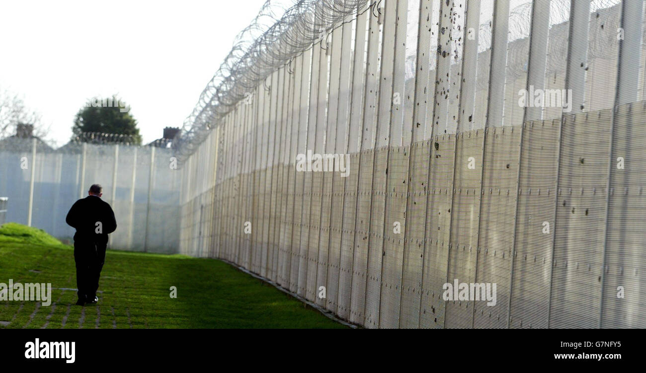
<path id="1" fill-rule="evenodd" d="M 548 326 L 594 328 L 601 315 L 605 225 L 612 193 L 608 172 L 621 2 L 574 2 L 572 12 L 567 72 L 572 110 L 563 115 L 561 127 Z M 575 48 L 578 43 L 585 48 Z"/>

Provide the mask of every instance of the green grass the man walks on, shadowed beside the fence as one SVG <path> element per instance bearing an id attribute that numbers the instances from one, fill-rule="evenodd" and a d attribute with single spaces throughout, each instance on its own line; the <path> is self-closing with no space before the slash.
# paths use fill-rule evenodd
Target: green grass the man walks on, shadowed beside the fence
<path id="1" fill-rule="evenodd" d="M 345 328 L 227 263 L 182 255 L 108 250 L 98 305 L 76 306 L 76 291 L 61 290 L 76 288 L 74 249 L 16 223 L 0 227 L 0 283 L 9 279 L 52 283 L 52 304 L 0 301 L 7 328 Z"/>

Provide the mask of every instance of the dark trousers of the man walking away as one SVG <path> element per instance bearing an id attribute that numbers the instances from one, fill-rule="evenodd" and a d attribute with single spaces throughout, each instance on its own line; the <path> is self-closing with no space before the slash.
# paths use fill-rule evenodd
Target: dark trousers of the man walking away
<path id="1" fill-rule="evenodd" d="M 76 287 L 82 301 L 92 301 L 99 288 L 99 277 L 105 262 L 106 243 L 90 240 L 74 240 L 76 262 Z"/>

